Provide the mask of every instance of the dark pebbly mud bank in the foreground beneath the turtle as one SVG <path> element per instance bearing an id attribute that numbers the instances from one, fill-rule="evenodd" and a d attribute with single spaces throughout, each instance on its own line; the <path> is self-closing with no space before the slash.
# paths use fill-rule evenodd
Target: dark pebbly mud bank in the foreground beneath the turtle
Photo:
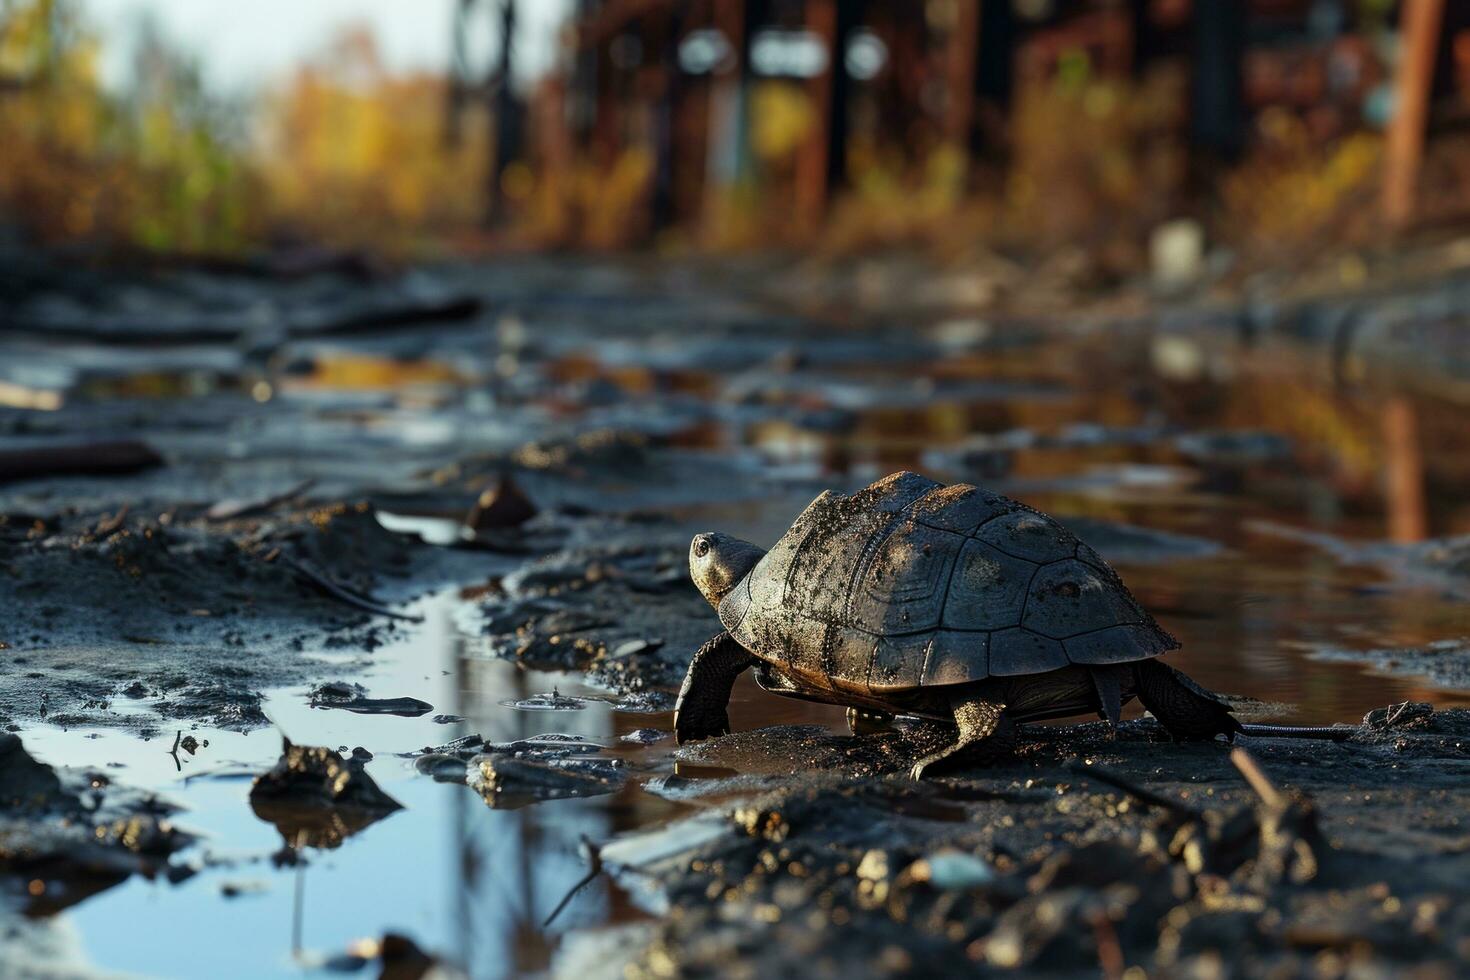
<path id="1" fill-rule="evenodd" d="M 778 789 L 603 861 L 666 911 L 632 976 L 1451 976 L 1467 738 L 1446 711 L 1341 745 L 1250 739 L 1238 767 L 1150 723 L 1086 724 L 916 785 L 883 774 L 907 733 L 770 730 L 681 755 L 770 760 Z"/>

